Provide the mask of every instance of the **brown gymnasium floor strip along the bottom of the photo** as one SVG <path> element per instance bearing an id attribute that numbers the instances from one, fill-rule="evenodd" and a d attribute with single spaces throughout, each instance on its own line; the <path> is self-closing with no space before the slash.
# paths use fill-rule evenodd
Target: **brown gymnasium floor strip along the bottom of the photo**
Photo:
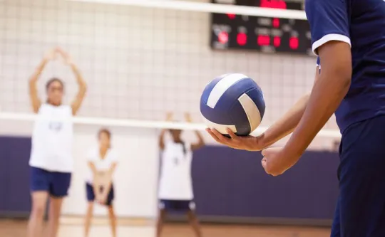
<path id="1" fill-rule="evenodd" d="M 76 220 L 78 222 L 78 220 Z M 0 221 L 1 237 L 24 237 L 26 221 Z M 90 237 L 111 236 L 108 226 L 96 223 L 91 229 Z M 329 228 L 284 227 L 284 226 L 225 226 L 203 225 L 204 237 L 328 237 Z M 143 223 L 121 225 L 118 228 L 119 237 L 154 237 L 155 228 Z M 80 223 L 62 221 L 58 237 L 83 237 Z M 183 224 L 167 225 L 162 237 L 194 237 L 190 227 Z"/>

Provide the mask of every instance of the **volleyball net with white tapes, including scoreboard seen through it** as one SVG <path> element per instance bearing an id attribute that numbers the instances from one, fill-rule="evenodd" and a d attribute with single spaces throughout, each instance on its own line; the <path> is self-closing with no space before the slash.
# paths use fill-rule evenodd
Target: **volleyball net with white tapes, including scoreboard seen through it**
<path id="1" fill-rule="evenodd" d="M 203 130 L 205 85 L 223 73 L 243 73 L 265 95 L 258 134 L 314 80 L 302 1 L 4 0 L 0 6 L 3 124 L 34 120 L 28 78 L 56 46 L 68 51 L 88 84 L 74 122 L 93 127 Z M 41 98 L 53 76 L 66 83 L 70 102 L 76 80 L 60 60 L 43 70 Z M 164 122 L 166 112 L 190 112 L 194 123 Z M 339 136 L 333 117 L 319 144 L 327 147 Z"/>

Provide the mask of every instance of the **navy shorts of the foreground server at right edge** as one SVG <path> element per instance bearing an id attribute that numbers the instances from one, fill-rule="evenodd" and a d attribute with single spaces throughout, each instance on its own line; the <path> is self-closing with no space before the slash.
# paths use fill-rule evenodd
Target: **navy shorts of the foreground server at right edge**
<path id="1" fill-rule="evenodd" d="M 331 236 L 384 237 L 385 116 L 348 127 L 339 156 L 339 199 Z"/>

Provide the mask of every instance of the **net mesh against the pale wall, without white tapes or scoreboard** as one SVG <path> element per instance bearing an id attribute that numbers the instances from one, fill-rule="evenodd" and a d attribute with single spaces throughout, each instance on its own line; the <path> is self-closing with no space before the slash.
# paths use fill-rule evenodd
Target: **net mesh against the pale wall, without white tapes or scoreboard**
<path id="1" fill-rule="evenodd" d="M 197 0 L 195 0 L 198 2 Z M 199 0 L 199 2 L 209 2 Z M 0 107 L 31 112 L 28 78 L 48 49 L 70 53 L 88 83 L 80 116 L 163 120 L 165 112 L 190 112 L 201 122 L 199 100 L 208 81 L 240 72 L 261 86 L 270 125 L 312 87 L 315 58 L 210 48 L 210 13 L 64 0 L 0 1 Z M 71 69 L 53 61 L 39 80 L 66 83 Z M 337 129 L 334 117 L 327 129 Z"/>

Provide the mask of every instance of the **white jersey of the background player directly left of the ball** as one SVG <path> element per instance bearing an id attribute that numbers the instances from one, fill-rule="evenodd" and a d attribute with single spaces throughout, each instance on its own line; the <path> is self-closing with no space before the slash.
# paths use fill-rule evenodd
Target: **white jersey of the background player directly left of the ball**
<path id="1" fill-rule="evenodd" d="M 184 147 L 183 147 L 184 146 Z M 191 145 L 166 142 L 162 152 L 160 171 L 159 199 L 193 200 L 193 180 L 191 163 L 193 152 Z"/>

